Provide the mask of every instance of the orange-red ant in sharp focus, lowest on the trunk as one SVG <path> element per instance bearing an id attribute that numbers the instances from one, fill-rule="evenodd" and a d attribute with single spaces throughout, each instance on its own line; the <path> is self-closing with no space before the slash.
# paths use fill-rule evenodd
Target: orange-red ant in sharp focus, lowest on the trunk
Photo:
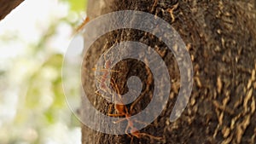
<path id="1" fill-rule="evenodd" d="M 116 84 L 116 82 L 114 81 L 114 79 L 112 78 L 112 85 L 113 85 L 113 88 L 116 90 L 118 96 L 119 96 L 119 99 L 121 99 L 121 95 L 120 95 L 120 92 L 119 92 L 119 88 Z M 121 101 L 121 100 L 120 100 Z M 116 122 L 113 122 L 114 124 L 117 124 L 117 123 L 120 123 L 122 121 L 125 121 L 127 120 L 127 126 L 125 128 L 125 134 L 128 135 L 129 137 L 131 137 L 131 143 L 133 141 L 133 137 L 137 137 L 138 139 L 142 138 L 143 136 L 148 136 L 150 139 L 154 139 L 156 141 L 161 141 L 162 140 L 162 137 L 158 137 L 158 136 L 154 136 L 154 135 L 149 135 L 147 133 L 142 133 L 140 132 L 139 130 L 137 130 L 137 128 L 134 126 L 134 122 L 136 123 L 141 123 L 141 124 L 145 124 L 143 122 L 140 122 L 140 121 L 137 121 L 137 120 L 132 120 L 131 119 L 131 111 L 136 104 L 137 104 L 138 101 L 134 101 L 132 104 L 131 104 L 131 107 L 130 109 L 128 110 L 128 108 L 123 104 L 115 104 L 114 105 L 114 109 L 117 113 L 111 113 L 112 112 L 112 108 L 110 108 L 108 110 L 108 116 L 111 116 L 111 117 L 125 117 L 125 118 L 120 118 L 118 121 Z M 128 133 L 128 130 L 131 131 L 131 135 Z"/>

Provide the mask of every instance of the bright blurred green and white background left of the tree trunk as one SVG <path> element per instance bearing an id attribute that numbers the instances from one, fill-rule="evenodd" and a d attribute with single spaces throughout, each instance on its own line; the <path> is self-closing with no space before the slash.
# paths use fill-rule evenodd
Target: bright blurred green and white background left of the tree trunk
<path id="1" fill-rule="evenodd" d="M 0 21 L 0 144 L 81 143 L 61 65 L 85 8 L 86 0 L 26 0 Z"/>

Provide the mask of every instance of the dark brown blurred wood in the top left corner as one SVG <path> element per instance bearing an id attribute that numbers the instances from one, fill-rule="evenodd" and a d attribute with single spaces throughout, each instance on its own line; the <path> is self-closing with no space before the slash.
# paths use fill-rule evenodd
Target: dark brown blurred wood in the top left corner
<path id="1" fill-rule="evenodd" d="M 0 20 L 15 9 L 24 0 L 0 0 Z"/>

